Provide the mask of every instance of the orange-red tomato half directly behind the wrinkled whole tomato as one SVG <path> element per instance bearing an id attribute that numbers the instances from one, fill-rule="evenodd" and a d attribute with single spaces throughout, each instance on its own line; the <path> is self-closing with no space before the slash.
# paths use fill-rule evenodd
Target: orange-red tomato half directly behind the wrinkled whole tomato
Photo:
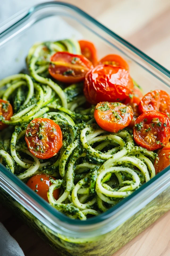
<path id="1" fill-rule="evenodd" d="M 129 70 L 128 63 L 117 54 L 108 54 L 99 61 L 100 64 L 113 65 L 114 67 L 121 67 L 122 69 Z"/>

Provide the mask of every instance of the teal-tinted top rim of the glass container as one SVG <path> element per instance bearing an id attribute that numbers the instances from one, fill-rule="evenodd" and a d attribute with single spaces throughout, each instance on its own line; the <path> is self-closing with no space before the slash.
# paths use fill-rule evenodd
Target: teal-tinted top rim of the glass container
<path id="1" fill-rule="evenodd" d="M 9 31 L 13 30 L 14 27 L 16 27 L 19 23 L 23 22 L 30 14 L 35 13 L 37 10 L 54 5 L 54 6 L 63 6 L 68 7 L 69 9 L 74 10 L 84 18 L 90 20 L 92 23 L 94 23 L 97 27 L 104 30 L 107 34 L 109 34 L 111 37 L 122 43 L 124 46 L 128 47 L 130 50 L 132 50 L 134 53 L 136 53 L 139 57 L 141 57 L 143 60 L 147 61 L 150 65 L 154 66 L 157 70 L 161 71 L 164 75 L 170 78 L 170 71 L 165 69 L 162 65 L 148 57 L 146 54 L 144 54 L 142 51 L 138 50 L 136 47 L 128 43 L 126 40 L 119 37 L 117 34 L 106 28 L 104 25 L 96 21 L 94 18 L 92 18 L 90 15 L 79 9 L 78 7 L 63 3 L 63 2 L 47 2 L 42 3 L 39 5 L 36 5 L 34 7 L 31 7 L 31 9 L 28 10 L 28 12 L 19 19 L 19 21 L 15 22 L 12 26 L 8 27 L 8 29 L 4 30 L 0 34 L 0 38 L 2 38 L 5 34 L 7 34 Z M 71 225 L 77 225 L 77 226 L 83 226 L 83 225 L 92 225 L 99 222 L 103 222 L 108 218 L 111 218 L 117 211 L 121 210 L 124 205 L 126 205 L 128 202 L 130 202 L 133 198 L 135 198 L 137 195 L 141 194 L 142 191 L 146 191 L 149 189 L 152 185 L 159 183 L 161 179 L 165 177 L 169 177 L 170 169 L 167 167 L 164 169 L 161 173 L 157 174 L 154 178 L 152 178 L 149 182 L 143 184 L 138 190 L 134 191 L 133 194 L 128 196 L 127 198 L 123 199 L 120 203 L 118 203 L 116 206 L 112 207 L 111 209 L 107 210 L 105 213 L 101 213 L 99 216 L 87 219 L 86 221 L 80 221 L 80 220 L 73 220 L 68 218 L 67 216 L 63 215 L 62 213 L 58 212 L 55 208 L 50 206 L 47 202 L 45 202 L 39 195 L 34 193 L 29 187 L 25 185 L 24 182 L 20 181 L 15 175 L 10 173 L 4 166 L 0 165 L 0 169 L 4 175 L 6 175 L 11 181 L 15 182 L 17 186 L 20 187 L 23 191 L 25 191 L 33 200 L 35 200 L 38 204 L 40 204 L 42 207 L 44 207 L 47 211 L 49 211 L 50 214 L 52 214 L 54 217 L 58 218 L 61 222 L 69 223 Z"/>

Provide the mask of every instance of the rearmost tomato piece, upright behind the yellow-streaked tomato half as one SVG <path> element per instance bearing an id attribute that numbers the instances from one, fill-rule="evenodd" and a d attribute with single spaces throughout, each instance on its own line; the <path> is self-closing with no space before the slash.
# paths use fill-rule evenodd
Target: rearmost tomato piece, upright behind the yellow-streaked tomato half
<path id="1" fill-rule="evenodd" d="M 79 45 L 82 54 L 92 62 L 94 66 L 97 65 L 97 50 L 93 43 L 85 40 L 80 40 Z"/>

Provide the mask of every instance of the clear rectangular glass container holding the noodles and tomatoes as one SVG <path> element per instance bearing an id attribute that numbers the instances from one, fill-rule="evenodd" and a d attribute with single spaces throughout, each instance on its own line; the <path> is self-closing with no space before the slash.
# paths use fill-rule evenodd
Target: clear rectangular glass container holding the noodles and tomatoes
<path id="1" fill-rule="evenodd" d="M 170 72 L 75 6 L 48 2 L 20 12 L 0 28 L 0 79 L 25 68 L 37 41 L 74 37 L 96 45 L 99 57 L 118 53 L 144 92 L 170 94 Z M 62 256 L 109 256 L 170 209 L 170 167 L 99 216 L 73 220 L 58 212 L 0 164 L 0 200 Z"/>

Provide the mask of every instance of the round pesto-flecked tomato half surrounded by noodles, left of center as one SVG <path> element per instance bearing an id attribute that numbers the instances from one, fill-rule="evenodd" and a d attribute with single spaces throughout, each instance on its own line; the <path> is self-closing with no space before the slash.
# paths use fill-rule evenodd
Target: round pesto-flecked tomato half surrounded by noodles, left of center
<path id="1" fill-rule="evenodd" d="M 25 141 L 33 155 L 47 159 L 56 155 L 61 149 L 62 131 L 51 119 L 35 118 L 27 126 Z"/>

